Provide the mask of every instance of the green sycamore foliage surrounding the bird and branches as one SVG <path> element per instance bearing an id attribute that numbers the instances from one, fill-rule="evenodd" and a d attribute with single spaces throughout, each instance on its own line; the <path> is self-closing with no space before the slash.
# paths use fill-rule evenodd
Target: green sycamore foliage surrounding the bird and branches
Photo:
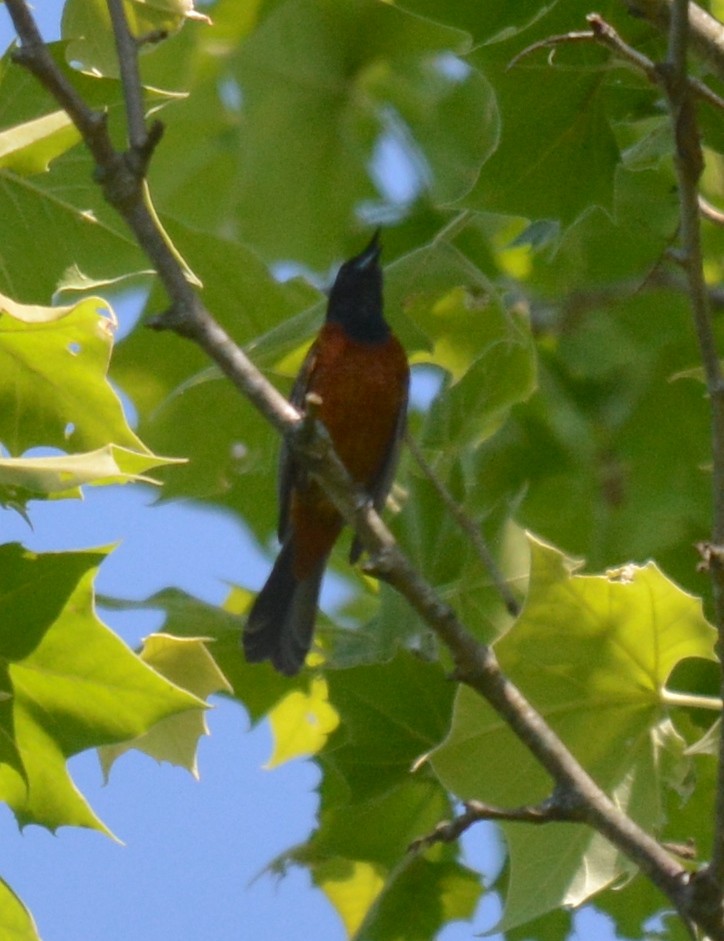
<path id="1" fill-rule="evenodd" d="M 396 535 L 619 805 L 705 855 L 711 700 L 697 697 L 713 631 L 692 545 L 711 528 L 709 418 L 667 260 L 678 217 L 660 92 L 590 43 L 521 55 L 583 28 L 581 0 L 216 0 L 209 21 L 182 0 L 127 7 L 139 32 L 169 32 L 141 57 L 166 126 L 150 193 L 209 309 L 286 389 L 320 321 L 318 286 L 383 225 L 388 316 L 421 390 L 412 434 L 525 599 L 521 616 L 409 456 Z M 597 12 L 661 56 L 660 35 L 619 0 Z M 52 51 L 122 142 L 105 4 L 66 0 Z M 716 202 L 724 136 L 719 114 L 702 117 Z M 715 284 L 724 236 L 704 237 Z M 167 498 L 238 514 L 267 545 L 273 432 L 192 344 L 139 325 L 114 345 L 96 295 L 142 287 L 148 313 L 165 298 L 69 120 L 10 52 L 0 244 L 5 512 L 32 518 L 34 500 L 157 468 Z M 281 283 L 290 263 L 297 276 Z M 58 291 L 64 305 L 48 306 Z M 309 669 L 285 680 L 243 661 L 243 585 L 221 608 L 172 587 L 148 599 L 166 633 L 130 651 L 95 614 L 105 554 L 0 547 L 0 797 L 21 824 L 105 829 L 66 771 L 84 749 L 102 746 L 106 768 L 138 747 L 195 772 L 202 700 L 225 690 L 270 717 L 272 764 L 317 762 L 317 828 L 279 865 L 309 869 L 351 938 L 424 941 L 474 917 L 483 880 L 457 844 L 409 844 L 459 799 L 512 806 L 551 782 L 489 707 L 456 692 L 445 651 L 397 595 L 350 571 L 340 547 L 349 596 L 320 618 Z M 630 865 L 583 827 L 503 829 L 511 939 L 528 922 L 531 936 L 564 937 L 556 910 L 591 899 L 624 933 L 659 914 L 642 877 L 618 901 Z M 36 938 L 2 882 L 0 899 L 0 935 Z"/>

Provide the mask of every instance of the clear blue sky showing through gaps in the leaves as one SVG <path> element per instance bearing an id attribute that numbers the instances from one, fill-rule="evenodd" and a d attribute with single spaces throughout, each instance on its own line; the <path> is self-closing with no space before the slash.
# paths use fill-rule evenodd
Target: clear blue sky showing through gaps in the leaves
<path id="1" fill-rule="evenodd" d="M 36 4 L 47 38 L 57 36 L 61 8 L 60 0 Z M 11 38 L 0 5 L 3 48 Z M 227 582 L 261 584 L 268 561 L 238 520 L 189 504 L 152 506 L 153 499 L 140 487 L 89 489 L 83 502 L 31 505 L 32 529 L 0 510 L 2 539 L 40 551 L 117 544 L 97 589 L 121 597 L 175 585 L 218 603 Z M 103 616 L 131 644 L 160 626 L 154 613 Z M 78 786 L 123 845 L 69 828 L 52 835 L 31 826 L 20 834 L 0 805 L 0 874 L 33 912 L 44 941 L 244 941 L 262 931 L 270 941 L 345 937 L 306 872 L 253 881 L 313 828 L 315 767 L 300 761 L 265 771 L 269 730 L 250 730 L 244 710 L 231 702 L 216 700 L 208 721 L 199 781 L 132 752 L 103 786 L 94 753 L 71 761 Z M 472 865 L 489 867 L 497 855 L 489 828 L 478 829 L 466 847 Z M 496 906 L 486 899 L 474 926 L 453 925 L 442 941 L 489 928 Z M 580 936 L 599 934 L 592 927 L 584 922 Z"/>

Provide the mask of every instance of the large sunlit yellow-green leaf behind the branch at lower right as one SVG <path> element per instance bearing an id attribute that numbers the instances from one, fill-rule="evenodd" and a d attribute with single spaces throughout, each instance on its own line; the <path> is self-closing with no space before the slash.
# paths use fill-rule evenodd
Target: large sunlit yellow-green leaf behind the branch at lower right
<path id="1" fill-rule="evenodd" d="M 578 575 L 555 549 L 529 541 L 529 594 L 518 622 L 496 645 L 501 666 L 622 809 L 645 829 L 659 830 L 666 787 L 678 784 L 687 767 L 685 743 L 668 719 L 665 684 L 679 661 L 714 656 L 701 602 L 653 563 Z M 552 788 L 507 726 L 467 689 L 432 761 L 463 799 L 515 806 L 540 801 Z M 504 829 L 511 859 L 505 927 L 580 904 L 626 869 L 583 827 Z"/>

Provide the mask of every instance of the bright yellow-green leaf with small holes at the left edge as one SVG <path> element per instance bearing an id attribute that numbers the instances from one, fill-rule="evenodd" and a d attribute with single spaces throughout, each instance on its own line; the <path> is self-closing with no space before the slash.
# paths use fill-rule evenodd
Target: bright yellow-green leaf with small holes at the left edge
<path id="1" fill-rule="evenodd" d="M 113 311 L 98 298 L 56 308 L 0 296 L 0 441 L 11 454 L 109 442 L 146 450 L 106 379 L 114 329 Z"/>

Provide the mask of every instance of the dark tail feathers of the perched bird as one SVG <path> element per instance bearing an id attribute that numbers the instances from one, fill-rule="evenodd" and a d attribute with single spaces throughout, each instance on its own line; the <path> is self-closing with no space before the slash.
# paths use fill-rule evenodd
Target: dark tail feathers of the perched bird
<path id="1" fill-rule="evenodd" d="M 325 557 L 307 578 L 298 581 L 291 539 L 282 546 L 244 627 L 244 653 L 249 663 L 271 660 L 286 676 L 299 672 L 312 644 L 326 563 Z"/>

